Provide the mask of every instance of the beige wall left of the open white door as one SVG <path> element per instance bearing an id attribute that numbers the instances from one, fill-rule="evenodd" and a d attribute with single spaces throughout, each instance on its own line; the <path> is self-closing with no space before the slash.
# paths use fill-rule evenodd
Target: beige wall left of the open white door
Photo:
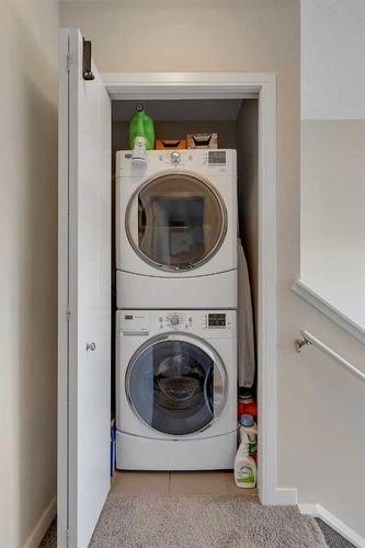
<path id="1" fill-rule="evenodd" d="M 0 546 L 56 494 L 58 2 L 2 0 Z"/>

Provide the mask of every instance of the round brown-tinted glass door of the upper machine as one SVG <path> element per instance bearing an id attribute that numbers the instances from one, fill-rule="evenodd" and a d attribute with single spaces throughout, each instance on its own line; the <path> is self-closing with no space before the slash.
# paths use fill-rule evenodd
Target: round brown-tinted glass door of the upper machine
<path id="1" fill-rule="evenodd" d="M 219 249 L 226 208 L 212 186 L 187 173 L 167 173 L 139 189 L 126 213 L 135 251 L 164 271 L 195 269 Z"/>

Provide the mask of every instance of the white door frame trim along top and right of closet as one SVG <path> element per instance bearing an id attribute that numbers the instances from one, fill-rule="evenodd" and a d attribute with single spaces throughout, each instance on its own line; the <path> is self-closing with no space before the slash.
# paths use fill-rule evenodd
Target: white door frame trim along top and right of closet
<path id="1" fill-rule="evenodd" d="M 112 100 L 259 99 L 259 496 L 296 504 L 277 487 L 276 89 L 271 72 L 122 72 L 102 75 Z"/>

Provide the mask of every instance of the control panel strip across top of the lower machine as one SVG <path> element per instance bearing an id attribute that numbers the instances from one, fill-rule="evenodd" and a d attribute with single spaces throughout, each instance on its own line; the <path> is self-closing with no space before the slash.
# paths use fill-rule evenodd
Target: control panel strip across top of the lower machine
<path id="1" fill-rule="evenodd" d="M 236 336 L 236 310 L 117 310 L 123 335 L 190 332 L 205 339 Z"/>

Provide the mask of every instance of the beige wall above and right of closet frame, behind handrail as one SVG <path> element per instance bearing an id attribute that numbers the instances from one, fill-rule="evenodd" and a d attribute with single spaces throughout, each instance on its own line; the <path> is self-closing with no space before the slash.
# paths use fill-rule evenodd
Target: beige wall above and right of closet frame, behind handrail
<path id="1" fill-rule="evenodd" d="M 316 350 L 294 350 L 309 328 L 354 363 L 365 359 L 360 342 L 289 289 L 299 277 L 299 0 L 61 3 L 62 25 L 81 27 L 104 72 L 276 72 L 280 484 L 365 535 L 364 388 Z"/>

